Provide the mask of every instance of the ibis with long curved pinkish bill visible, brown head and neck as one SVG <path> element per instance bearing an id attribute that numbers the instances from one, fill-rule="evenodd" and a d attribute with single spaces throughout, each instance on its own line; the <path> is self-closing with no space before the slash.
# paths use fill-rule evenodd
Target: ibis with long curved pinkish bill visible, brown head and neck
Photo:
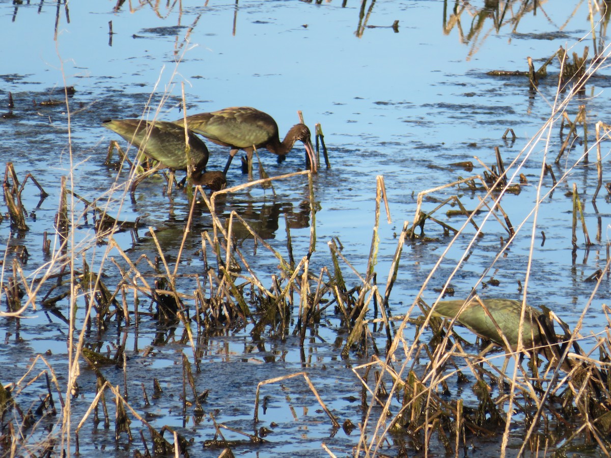
<path id="1" fill-rule="evenodd" d="M 229 159 L 225 165 L 224 173 L 227 174 L 233 156 L 238 150 L 246 151 L 249 164 L 252 162 L 254 148 L 266 148 L 274 154 L 284 158 L 297 140 L 304 144 L 305 152 L 310 162 L 310 169 L 316 172 L 318 166 L 310 129 L 305 124 L 296 124 L 291 127 L 280 142 L 278 125 L 273 117 L 247 106 L 229 107 L 211 113 L 200 113 L 186 118 L 187 127 L 212 142 L 231 148 Z M 184 119 L 175 121 L 183 126 Z M 279 158 L 279 159 L 280 159 Z"/>

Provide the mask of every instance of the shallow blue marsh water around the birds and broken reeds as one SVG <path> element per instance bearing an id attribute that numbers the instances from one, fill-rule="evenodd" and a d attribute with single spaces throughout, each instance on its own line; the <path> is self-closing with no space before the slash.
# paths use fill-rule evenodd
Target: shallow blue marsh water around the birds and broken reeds
<path id="1" fill-rule="evenodd" d="M 376 271 L 378 278 L 384 278 L 385 282 L 397 247 L 396 234 L 401 231 L 404 220 L 414 219 L 415 195 L 451 183 L 458 176 L 469 176 L 452 165 L 455 162 L 473 161 L 473 156 L 478 156 L 485 164 L 492 165 L 495 146 L 500 148 L 506 163 L 510 162 L 551 114 L 557 60 L 549 67 L 550 75 L 541 82 L 540 93 L 536 95 L 529 91 L 524 77 L 494 77 L 486 72 L 526 70 L 527 56 L 533 57 L 538 67 L 565 45 L 574 46 L 579 55 L 589 45 L 592 56 L 591 38 L 579 42 L 590 31 L 587 2 L 542 2 L 536 9 L 527 2 L 524 14 L 520 13 L 524 7 L 522 2 L 501 2 L 507 10 L 499 29 L 494 23 L 503 9 L 486 10 L 484 3 L 366 2 L 367 25 L 379 27 L 359 28 L 365 18 L 360 18 L 361 3 L 353 0 L 348 0 L 345 7 L 341 1 L 321 4 L 241 1 L 237 6 L 233 2 L 202 6 L 201 2 L 183 1 L 181 9 L 178 2 L 166 2 L 157 9 L 148 3 L 131 2 L 132 12 L 129 2 L 113 11 L 114 1 L 59 5 L 44 1 L 18 5 L 0 1 L 0 37 L 3 43 L 10 43 L 2 50 L 4 67 L 0 75 L 0 101 L 5 104 L 5 113 L 9 112 L 6 107 L 9 92 L 15 100 L 12 115 L 0 119 L 0 158 L 13 162 L 22 179 L 26 172 L 32 173 L 50 194 L 37 207 L 37 191 L 28 184 L 23 203 L 28 211 L 35 208 L 35 220 L 27 221 L 31 230 L 9 241 L 10 227 L 4 220 L 0 225 L 0 242 L 25 245 L 30 257 L 24 268 L 27 275 L 33 275 L 48 260 L 39 247 L 43 232 L 54 231 L 60 176 L 70 175 L 75 192 L 89 200 L 106 192 L 115 180 L 123 183 L 128 179 L 125 170 L 117 173 L 102 165 L 109 140 L 119 139 L 102 128 L 101 121 L 141 117 L 143 113 L 152 118 L 156 111 L 160 119 L 175 120 L 182 115 L 180 83 L 184 81 L 190 114 L 233 105 L 255 106 L 272 114 L 284 134 L 298 122 L 296 110 L 300 109 L 310 127 L 315 122 L 322 124 L 332 167 L 321 170 L 314 178 L 315 200 L 320 209 L 316 213 L 318 241 L 311 260 L 313 271 L 331 266 L 326 243 L 333 237 L 341 241 L 343 255 L 357 271 L 365 271 L 374 224 L 375 176 L 383 175 L 393 221 L 387 224 L 382 217 L 379 231 Z M 600 13 L 595 13 L 595 17 L 600 18 Z M 395 20 L 399 21 L 398 32 L 390 27 Z M 115 32 L 112 37 L 108 35 L 108 21 L 112 21 Z M 604 42 L 606 35 L 598 27 L 596 30 Z M 56 33 L 57 40 L 54 40 Z M 178 64 L 177 59 L 180 59 Z M 569 116 L 574 118 L 578 104 L 587 106 L 590 133 L 596 120 L 609 122 L 609 84 L 608 71 L 599 71 L 587 85 L 585 95 L 573 100 L 568 107 Z M 40 105 L 49 99 L 61 102 L 63 92 L 58 88 L 64 85 L 74 86 L 76 90 L 69 99 L 70 136 L 65 104 Z M 167 100 L 164 94 L 168 95 Z M 163 106 L 158 109 L 161 101 Z M 150 113 L 145 112 L 147 105 Z M 518 136 L 515 142 L 502 140 L 507 128 L 512 128 Z M 554 161 L 558 150 L 558 123 L 553 130 L 552 140 L 556 145 L 549 150 L 545 159 L 548 163 Z M 220 169 L 225 162 L 226 148 L 210 143 L 208 147 L 211 151 L 208 169 Z M 593 290 L 593 283 L 585 282 L 585 278 L 606 263 L 611 213 L 609 199 L 602 196 L 598 199 L 599 213 L 591 207 L 596 171 L 594 165 L 571 168 L 579 158 L 579 151 L 577 147 L 560 165 L 554 166 L 557 177 L 564 170 L 570 174 L 540 207 L 533 276 L 529 282 L 530 304 L 552 307 L 571 328 Z M 503 198 L 503 208 L 514 225 L 533 208 L 543 154 L 541 142 L 521 170 L 529 184 L 522 187 L 519 195 Z M 260 157 L 270 175 L 303 167 L 303 150 L 299 146 L 282 164 L 276 164 L 275 158 L 266 151 L 260 152 Z M 594 154 L 590 153 L 591 164 L 593 158 Z M 609 161 L 604 148 L 603 162 L 606 173 Z M 475 172 L 481 173 L 483 167 L 474 163 Z M 229 180 L 230 186 L 247 181 L 235 163 Z M 597 225 L 602 228 L 601 238 L 589 250 L 585 250 L 579 238 L 575 263 L 571 253 L 572 202 L 564 195 L 573 183 L 577 183 L 582 195 L 593 240 Z M 546 178 L 544 191 L 550 187 L 551 179 Z M 219 198 L 218 212 L 227 216 L 236 210 L 258 225 L 262 237 L 282 253 L 287 251 L 285 213 L 288 212 L 293 249 L 296 258 L 301 258 L 307 253 L 310 238 L 310 216 L 307 206 L 304 207 L 309 198 L 307 180 L 295 177 L 279 181 L 274 184 L 274 190 L 276 195 L 257 189 Z M 450 187 L 436 192 L 434 198 L 447 198 L 457 192 L 466 206 L 477 204 L 477 195 L 464 188 L 457 191 L 456 187 Z M 117 187 L 114 196 L 119 198 L 122 193 L 123 189 Z M 119 205 L 113 201 L 109 207 L 120 219 L 133 221 L 141 217 L 143 227 L 135 242 L 129 233 L 115 235 L 122 249 L 133 258 L 141 253 L 154 257 L 156 247 L 147 234 L 153 228 L 164 253 L 172 260 L 188 214 L 185 195 L 175 193 L 170 202 L 163 194 L 161 178 L 152 178 L 141 184 L 135 203 L 129 202 L 126 199 Z M 425 203 L 425 209 L 435 205 Z M 211 227 L 205 206 L 199 211 L 193 234 Z M 448 217 L 447 222 L 459 227 L 463 221 L 460 217 Z M 389 304 L 393 314 L 406 313 L 450 240 L 433 225 L 427 223 L 425 229 L 427 235 L 438 240 L 414 242 L 404 247 Z M 466 296 L 486 272 L 485 280 L 494 276 L 500 285 L 480 288 L 482 296 L 518 297 L 517 280 L 524 283 L 531 230 L 527 223 L 507 255 L 497 261 L 492 271 L 486 272 L 499 252 L 500 237 L 507 239 L 500 225 L 489 222 L 485 237 L 476 242 L 451 282 L 456 296 Z M 541 230 L 546 235 L 544 244 Z M 434 289 L 444 285 L 473 233 L 472 228 L 467 228 L 466 236 L 452 246 L 425 291 L 425 300 L 432 303 L 436 299 Z M 75 237 L 84 244 L 93 239 L 91 219 L 82 222 Z M 271 275 L 277 272 L 276 258 L 260 247 L 254 255 L 255 245 L 250 238 L 244 237 L 240 245 L 249 253 L 254 271 L 271 282 Z M 196 253 L 199 247 L 199 235 L 188 239 L 185 249 L 188 256 L 182 264 L 186 271 L 202 269 L 203 262 Z M 105 250 L 103 245 L 91 247 L 87 260 L 96 267 L 103 263 L 102 270 L 112 284 L 117 272 L 108 260 L 110 256 L 116 259 L 119 256 L 115 251 L 106 253 Z M 12 256 L 12 251 L 7 250 L 5 266 L 10 265 Z M 12 275 L 8 270 L 9 273 L 4 272 L 3 282 Z M 356 278 L 351 281 L 353 285 L 358 284 Z M 193 289 L 188 280 L 181 285 L 186 291 Z M 609 297 L 609 286 L 609 278 L 604 277 L 585 316 L 583 335 L 604 330 L 607 319 L 602 304 Z M 67 310 L 60 312 L 68 315 Z M 47 350 L 50 350 L 48 362 L 58 378 L 65 380 L 67 325 L 48 311 L 29 310 L 26 316 L 31 319 L 21 319 L 18 328 L 12 319 L 0 321 L 0 330 L 5 335 L 5 344 L 0 347 L 0 363 L 5 366 L 0 372 L 0 382 L 19 379 L 35 355 Z M 246 329 L 210 337 L 203 348 L 207 357 L 202 362 L 202 373 L 197 374 L 196 380 L 202 390 L 210 390 L 205 411 L 214 412 L 217 421 L 252 433 L 257 383 L 305 370 L 321 397 L 342 421 L 350 419 L 354 424 L 359 423 L 361 385 L 350 368 L 369 359 L 351 354 L 348 360 L 342 360 L 339 353 L 345 336 L 338 333 L 340 330 L 337 316 L 332 310 L 327 311 L 315 335 L 306 340 L 303 353 L 299 350 L 298 338 L 291 335 L 285 341 L 273 338 L 254 341 Z M 114 339 L 108 335 L 101 339 L 103 348 L 121 343 L 123 331 L 115 333 Z M 413 338 L 413 333 L 408 330 L 406 338 Z M 202 452 L 201 448 L 203 440 L 214 436 L 210 419 L 196 424 L 192 418 L 185 420 L 181 415 L 181 355 L 190 355 L 189 347 L 180 341 L 183 329 L 178 327 L 174 333 L 160 331 L 153 322 L 144 320 L 137 333 L 126 335 L 133 393 L 130 401 L 134 408 L 158 416 L 152 421 L 155 427 L 167 424 L 194 438 L 192 447 L 197 454 L 192 456 L 201 453 L 218 456 L 219 451 Z M 467 332 L 463 335 L 470 338 Z M 152 353 L 142 357 L 145 347 L 150 347 Z M 40 371 L 42 367 L 37 369 Z M 122 372 L 115 369 L 104 369 L 104 376 L 115 385 L 123 383 Z M 139 401 L 139 387 L 144 383 L 148 391 L 152 390 L 153 377 L 162 382 L 165 394 L 156 405 L 145 407 Z M 83 366 L 79 377 L 82 394 L 73 404 L 73 421 L 78 421 L 95 396 L 95 382 L 95 374 Z M 43 385 L 40 381 L 38 384 L 29 388 L 33 404 L 40 393 L 37 390 Z M 453 388 L 458 396 L 461 389 Z M 261 456 L 271 453 L 323 456 L 320 446 L 324 442 L 338 456 L 351 453 L 358 440 L 358 430 L 352 434 L 342 429 L 333 432 L 301 380 L 285 381 L 282 388 L 269 385 L 263 391 L 270 397 L 270 403 L 265 413 L 259 413 L 259 418 L 264 426 L 269 427 L 271 422 L 279 426 L 272 428 L 273 433 L 266 437 L 269 444 L 252 449 L 238 447 L 235 451 Z M 521 444 L 521 434 L 516 428 L 510 448 Z M 112 431 L 100 427 L 87 441 L 81 437 L 81 451 L 87 442 L 90 443 L 87 456 L 95 456 L 96 450 L 101 449 L 105 449 L 104 454 L 132 456 L 138 447 L 126 443 L 124 437 L 122 441 L 117 445 Z M 497 439 L 488 444 L 482 441 L 477 456 L 481 456 L 482 450 L 488 456 L 498 456 L 499 443 Z M 439 449 L 434 453 L 444 453 L 437 446 Z"/>

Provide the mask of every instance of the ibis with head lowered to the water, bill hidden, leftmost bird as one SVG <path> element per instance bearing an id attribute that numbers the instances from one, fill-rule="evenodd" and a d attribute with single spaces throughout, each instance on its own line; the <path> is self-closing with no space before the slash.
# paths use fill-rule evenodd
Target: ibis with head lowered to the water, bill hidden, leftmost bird
<path id="1" fill-rule="evenodd" d="M 185 128 L 175 123 L 155 121 L 149 122 L 140 119 L 112 119 L 106 120 L 102 125 L 116 132 L 130 144 L 141 150 L 148 158 L 155 159 L 159 164 L 153 169 L 137 176 L 131 185 L 131 192 L 148 175 L 159 169 L 187 170 L 188 159 L 185 145 Z M 225 186 L 224 176 L 220 178 L 219 172 L 206 172 L 208 163 L 208 148 L 194 133 L 188 131 L 189 158 L 192 165 L 192 181 L 194 184 L 209 186 L 218 191 Z M 216 189 L 215 189 L 216 188 Z"/>

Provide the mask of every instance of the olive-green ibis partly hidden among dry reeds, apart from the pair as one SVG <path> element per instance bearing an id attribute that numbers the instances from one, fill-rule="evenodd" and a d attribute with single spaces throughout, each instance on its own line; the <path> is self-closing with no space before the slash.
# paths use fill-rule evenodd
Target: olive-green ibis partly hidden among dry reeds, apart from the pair
<path id="1" fill-rule="evenodd" d="M 477 298 L 467 301 L 442 300 L 437 302 L 432 314 L 450 320 L 456 318 L 456 322 L 481 338 L 502 346 L 505 351 L 518 350 L 518 332 L 522 316 L 521 300 Z M 509 349 L 501 333 L 505 336 Z M 550 362 L 558 358 L 558 339 L 554 333 L 554 326 L 541 311 L 529 305 L 524 306 L 522 349 L 537 352 Z"/>

